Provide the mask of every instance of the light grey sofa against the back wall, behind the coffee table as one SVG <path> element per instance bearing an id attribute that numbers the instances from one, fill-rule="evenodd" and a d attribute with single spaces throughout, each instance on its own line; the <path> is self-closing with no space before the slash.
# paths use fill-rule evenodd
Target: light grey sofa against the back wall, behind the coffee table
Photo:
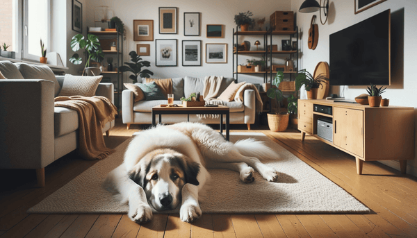
<path id="1" fill-rule="evenodd" d="M 144 82 L 144 78 L 142 81 Z M 220 86 L 220 93 L 234 82 L 234 78 L 224 78 Z M 139 82 L 142 83 L 142 82 Z M 185 78 L 172 78 L 172 92 L 174 94 L 174 104 L 182 104 L 181 97 L 188 97 L 193 92 L 203 93 L 204 78 L 194 78 L 186 76 Z M 160 104 L 167 104 L 167 100 L 152 101 L 133 101 L 133 91 L 122 91 L 122 121 L 127 125 L 131 124 L 152 124 L 152 107 Z M 256 118 L 256 94 L 254 90 L 245 90 L 243 92 L 243 103 L 236 101 L 224 101 L 224 105 L 230 108 L 230 124 L 246 124 L 250 130 L 250 125 L 254 124 Z M 187 115 L 163 115 L 163 124 L 174 124 L 181 121 L 187 121 Z M 201 118 L 195 114 L 190 114 L 190 121 L 204 124 L 218 124 L 219 119 L 213 117 Z M 158 123 L 158 118 L 156 118 Z"/>

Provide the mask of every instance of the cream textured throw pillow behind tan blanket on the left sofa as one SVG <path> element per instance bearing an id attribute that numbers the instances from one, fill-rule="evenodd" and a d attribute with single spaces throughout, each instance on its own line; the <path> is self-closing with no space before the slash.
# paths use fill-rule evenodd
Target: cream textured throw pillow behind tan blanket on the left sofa
<path id="1" fill-rule="evenodd" d="M 94 96 L 103 78 L 100 76 L 73 76 L 65 74 L 63 88 L 58 96 Z"/>

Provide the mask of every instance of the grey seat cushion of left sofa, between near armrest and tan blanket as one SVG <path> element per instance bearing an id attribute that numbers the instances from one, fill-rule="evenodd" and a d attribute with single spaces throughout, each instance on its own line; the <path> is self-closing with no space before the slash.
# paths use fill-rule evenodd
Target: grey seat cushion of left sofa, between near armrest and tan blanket
<path id="1" fill-rule="evenodd" d="M 54 133 L 55 137 L 67 135 L 79 128 L 78 113 L 68 108 L 54 108 Z"/>

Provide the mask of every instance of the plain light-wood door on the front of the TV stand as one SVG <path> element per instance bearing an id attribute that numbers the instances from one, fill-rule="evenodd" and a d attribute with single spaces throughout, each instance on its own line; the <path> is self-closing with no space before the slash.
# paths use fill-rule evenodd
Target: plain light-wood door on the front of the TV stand
<path id="1" fill-rule="evenodd" d="M 334 144 L 363 157 L 363 111 L 334 108 Z"/>

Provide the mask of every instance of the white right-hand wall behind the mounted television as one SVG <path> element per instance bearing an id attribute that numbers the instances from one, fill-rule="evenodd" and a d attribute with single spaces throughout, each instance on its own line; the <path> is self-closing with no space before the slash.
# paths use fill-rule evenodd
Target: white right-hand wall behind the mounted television
<path id="1" fill-rule="evenodd" d="M 401 15 L 401 12 L 404 12 L 404 49 L 402 49 L 401 37 L 395 36 L 393 42 L 399 42 L 400 44 L 394 45 L 391 44 L 391 56 L 399 56 L 395 58 L 395 65 L 400 67 L 391 68 L 391 82 L 393 85 L 389 86 L 389 89 L 386 90 L 383 97 L 390 99 L 390 105 L 402 105 L 417 108 L 417 80 L 416 80 L 416 65 L 417 65 L 417 4 L 416 1 L 409 0 L 396 0 L 396 1 L 384 1 L 383 3 L 369 8 L 359 14 L 354 14 L 354 1 L 346 0 L 336 0 L 329 1 L 329 19 L 325 25 L 320 24 L 320 19 L 318 18 L 318 31 L 319 31 L 319 40 L 316 50 L 308 49 L 307 40 L 308 33 L 310 28 L 311 17 L 316 14 L 319 17 L 319 12 L 314 13 L 300 13 L 298 9 L 300 8 L 301 3 L 304 0 L 293 0 L 291 3 L 291 10 L 297 12 L 297 26 L 302 32 L 302 39 L 300 40 L 300 48 L 302 52 L 301 58 L 301 69 L 307 69 L 310 72 L 313 72 L 317 63 L 320 61 L 329 62 L 329 35 L 340 31 L 347 26 L 361 22 L 368 17 L 372 17 L 379 12 L 382 12 L 386 9 L 391 9 L 391 16 Z M 398 19 L 398 17 L 397 17 Z M 400 19 L 400 22 L 402 20 Z M 391 25 L 392 26 L 392 25 Z M 396 26 L 395 26 L 396 27 Z M 401 29 L 391 28 L 391 33 L 393 31 L 400 32 Z M 394 51 L 394 52 L 393 52 Z M 395 53 L 396 52 L 396 53 Z M 402 59 L 402 53 L 404 57 Z M 402 69 L 402 62 L 404 67 Z M 332 67 L 332 65 L 330 65 Z M 403 71 L 402 71 L 403 70 Z M 332 80 L 330 78 L 330 80 Z M 355 96 L 359 94 L 366 93 L 366 87 L 352 87 L 345 86 L 344 94 L 342 87 L 334 86 L 331 88 L 331 92 L 344 95 L 346 99 L 354 99 Z M 303 90 L 301 92 L 302 98 L 306 98 L 306 93 Z M 415 110 L 415 121 L 417 121 L 417 110 Z M 398 123 L 401 123 L 400 121 Z M 417 122 L 415 122 L 415 130 L 417 129 Z M 417 130 L 416 130 L 417 131 Z M 416 138 L 417 138 L 417 133 Z M 417 140 L 416 140 L 417 148 Z M 417 151 L 417 149 L 416 149 Z M 414 176 L 417 176 L 417 153 L 415 153 L 415 160 L 408 161 L 407 173 L 412 173 Z M 395 169 L 399 169 L 399 163 L 395 161 L 383 162 L 388 164 Z"/>

